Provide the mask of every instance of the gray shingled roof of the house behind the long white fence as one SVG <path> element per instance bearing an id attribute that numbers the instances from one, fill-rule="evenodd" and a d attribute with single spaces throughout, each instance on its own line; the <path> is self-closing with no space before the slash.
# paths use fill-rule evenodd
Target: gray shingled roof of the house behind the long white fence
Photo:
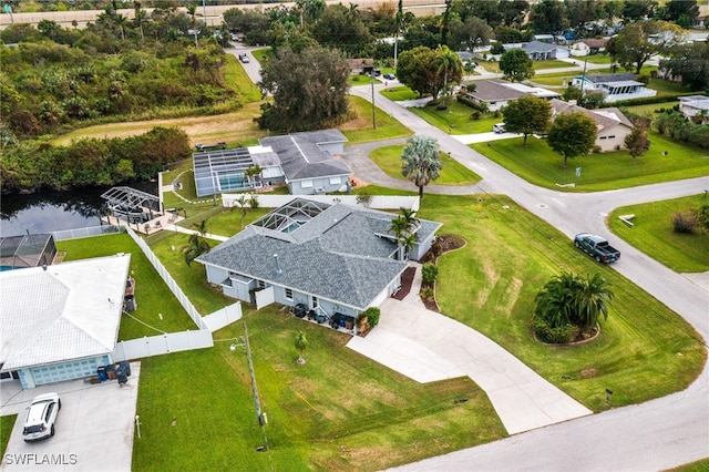
<path id="1" fill-rule="evenodd" d="M 346 141 L 347 137 L 338 130 L 322 130 L 264 137 L 260 143 L 278 154 L 286 178 L 299 181 L 351 174 L 345 161 L 335 158 L 320 147 L 321 144 Z"/>

